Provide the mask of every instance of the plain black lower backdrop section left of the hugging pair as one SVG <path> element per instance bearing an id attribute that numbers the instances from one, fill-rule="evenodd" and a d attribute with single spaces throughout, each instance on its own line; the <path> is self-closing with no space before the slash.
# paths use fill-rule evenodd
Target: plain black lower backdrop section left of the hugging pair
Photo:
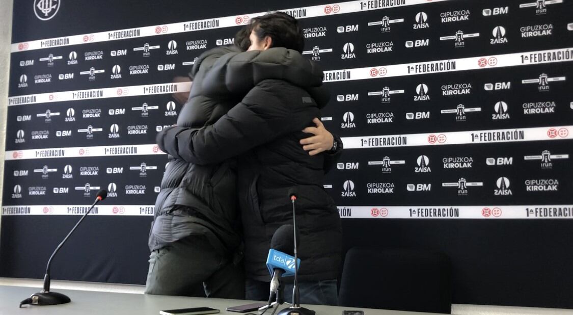
<path id="1" fill-rule="evenodd" d="M 44 278 L 50 255 L 78 219 L 77 216 L 3 217 L 2 277 Z M 149 256 L 144 236 L 149 232 L 152 218 L 88 219 L 53 259 L 52 279 L 144 283 Z"/>

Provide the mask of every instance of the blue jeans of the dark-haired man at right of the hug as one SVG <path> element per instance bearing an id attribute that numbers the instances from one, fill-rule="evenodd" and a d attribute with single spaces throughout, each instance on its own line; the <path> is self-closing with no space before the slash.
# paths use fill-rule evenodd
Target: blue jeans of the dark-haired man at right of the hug
<path id="1" fill-rule="evenodd" d="M 336 279 L 299 282 L 300 304 L 338 305 Z M 246 300 L 268 301 L 270 282 L 246 279 Z M 285 302 L 292 303 L 292 284 L 284 285 Z"/>

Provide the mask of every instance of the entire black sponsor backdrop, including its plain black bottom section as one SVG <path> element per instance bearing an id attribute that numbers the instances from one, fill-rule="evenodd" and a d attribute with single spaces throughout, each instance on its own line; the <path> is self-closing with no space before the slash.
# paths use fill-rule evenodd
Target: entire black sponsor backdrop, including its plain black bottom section
<path id="1" fill-rule="evenodd" d="M 178 76 L 278 9 L 346 147 L 324 186 L 341 246 L 446 252 L 454 303 L 573 308 L 571 0 L 17 1 L 0 275 L 41 278 L 105 188 L 52 276 L 144 283 Z"/>

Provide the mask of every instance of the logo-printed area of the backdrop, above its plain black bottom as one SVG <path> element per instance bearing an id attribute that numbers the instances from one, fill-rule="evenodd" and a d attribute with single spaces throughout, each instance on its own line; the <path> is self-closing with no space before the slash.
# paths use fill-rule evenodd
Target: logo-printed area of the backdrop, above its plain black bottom
<path id="1" fill-rule="evenodd" d="M 62 14 L 36 0 L 34 14 Z M 344 218 L 570 219 L 572 1 L 374 0 L 285 9 L 324 68 Z M 58 13 L 59 12 L 59 13 Z M 152 215 L 156 133 L 206 49 L 263 13 L 13 43 L 3 215 Z M 570 19 L 570 20 L 567 20 Z M 235 27 L 234 27 L 235 26 Z M 570 133 L 571 132 L 571 133 Z M 62 198 L 64 197 L 64 198 Z"/>

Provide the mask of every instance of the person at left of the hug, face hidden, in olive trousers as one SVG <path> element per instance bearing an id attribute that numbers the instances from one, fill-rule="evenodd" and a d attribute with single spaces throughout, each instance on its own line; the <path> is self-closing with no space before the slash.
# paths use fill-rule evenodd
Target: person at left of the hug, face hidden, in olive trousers
<path id="1" fill-rule="evenodd" d="M 178 126 L 211 125 L 240 101 L 229 94 L 206 96 L 202 88 L 203 77 L 216 60 L 248 48 L 247 29 L 237 34 L 236 42 L 242 49 L 214 48 L 196 60 L 190 73 L 193 85 Z M 325 129 L 316 134 L 321 133 L 330 135 Z M 226 160 L 201 166 L 176 157 L 168 163 L 148 239 L 146 293 L 244 298 L 234 165 L 233 160 Z"/>

